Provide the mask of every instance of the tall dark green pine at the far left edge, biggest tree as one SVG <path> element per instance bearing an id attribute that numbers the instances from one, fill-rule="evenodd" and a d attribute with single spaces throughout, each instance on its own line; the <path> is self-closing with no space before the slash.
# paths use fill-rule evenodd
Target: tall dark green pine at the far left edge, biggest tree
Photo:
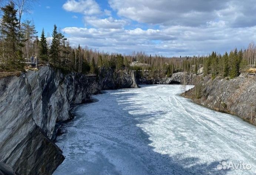
<path id="1" fill-rule="evenodd" d="M 6 69 L 23 69 L 22 51 L 23 37 L 19 32 L 19 22 L 16 17 L 17 10 L 14 9 L 14 3 L 11 1 L 5 7 L 1 7 L 3 16 L 1 20 L 1 35 L 4 43 L 3 55 Z"/>

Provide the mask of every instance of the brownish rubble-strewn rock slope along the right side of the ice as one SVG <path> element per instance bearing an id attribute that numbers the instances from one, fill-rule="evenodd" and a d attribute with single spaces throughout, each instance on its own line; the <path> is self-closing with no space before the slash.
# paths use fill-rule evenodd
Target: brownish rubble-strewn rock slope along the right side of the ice
<path id="1" fill-rule="evenodd" d="M 256 125 L 256 77 L 241 74 L 232 80 L 211 76 L 200 78 L 200 88 L 194 87 L 185 92 L 197 104 L 216 111 L 227 112 Z M 197 89 L 196 89 L 197 88 Z M 200 96 L 195 98 L 195 90 Z"/>

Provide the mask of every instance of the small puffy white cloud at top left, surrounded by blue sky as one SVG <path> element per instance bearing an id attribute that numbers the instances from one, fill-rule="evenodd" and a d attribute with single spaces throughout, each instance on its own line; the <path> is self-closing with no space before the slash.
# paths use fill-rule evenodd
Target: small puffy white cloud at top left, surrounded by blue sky
<path id="1" fill-rule="evenodd" d="M 100 6 L 95 0 L 67 0 L 62 6 L 66 11 L 82 13 L 85 15 L 100 14 Z"/>

